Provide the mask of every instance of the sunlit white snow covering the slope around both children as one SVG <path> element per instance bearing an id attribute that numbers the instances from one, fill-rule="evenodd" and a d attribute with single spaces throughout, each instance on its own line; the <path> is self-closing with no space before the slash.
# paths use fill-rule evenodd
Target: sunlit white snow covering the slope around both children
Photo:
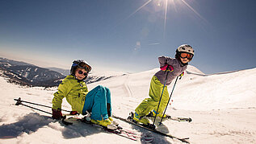
<path id="1" fill-rule="evenodd" d="M 155 68 L 125 75 L 108 72 L 111 78 L 88 84 L 88 88 L 99 84 L 110 88 L 113 113 L 128 117 L 129 112 L 149 97 L 150 80 L 157 71 Z M 166 113 L 173 117 L 191 117 L 193 121 L 163 121 L 157 130 L 170 132 L 178 138 L 189 137 L 191 143 L 256 143 L 255 80 L 256 68 L 205 75 L 189 66 L 174 88 L 173 102 Z M 169 92 L 172 84 L 168 87 Z M 22 97 L 23 101 L 51 106 L 52 94 L 56 91 L 57 87 L 29 88 L 10 84 L 0 76 L 0 143 L 141 143 L 79 122 L 63 125 L 47 113 L 17 106 L 13 100 Z M 36 108 L 51 112 L 48 108 Z M 71 109 L 65 100 L 62 109 Z M 139 134 L 147 133 L 116 121 Z M 153 136 L 153 143 L 181 143 L 158 134 Z"/>

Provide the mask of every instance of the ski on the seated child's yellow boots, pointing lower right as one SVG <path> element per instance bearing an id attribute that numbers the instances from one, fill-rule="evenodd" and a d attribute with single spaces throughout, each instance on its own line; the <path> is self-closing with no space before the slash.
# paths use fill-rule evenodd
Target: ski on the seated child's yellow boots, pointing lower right
<path id="1" fill-rule="evenodd" d="M 100 128 L 101 130 L 104 130 L 108 133 L 111 133 L 111 134 L 116 134 L 116 135 L 119 135 L 121 137 L 124 137 L 124 138 L 128 138 L 128 139 L 131 139 L 132 141 L 137 141 L 138 139 L 141 138 L 141 136 L 139 134 L 136 134 L 130 130 L 124 130 L 123 127 L 121 126 L 117 126 L 116 129 L 112 130 L 112 129 L 109 129 L 107 128 L 106 126 L 103 126 L 103 125 L 97 125 L 97 124 L 94 124 L 90 121 L 87 121 L 86 120 L 86 117 L 68 117 L 66 118 L 66 122 L 69 122 L 69 120 L 75 120 L 75 121 L 80 121 L 82 123 L 85 123 L 87 125 L 91 125 L 91 126 L 94 126 L 94 127 L 97 127 L 97 128 Z M 72 122 L 70 122 L 72 123 Z"/>

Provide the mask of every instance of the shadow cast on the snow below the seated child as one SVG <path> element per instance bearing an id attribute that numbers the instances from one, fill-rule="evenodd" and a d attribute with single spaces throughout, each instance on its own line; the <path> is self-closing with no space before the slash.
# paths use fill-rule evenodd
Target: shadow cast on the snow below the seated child
<path id="1" fill-rule="evenodd" d="M 59 125 L 49 125 L 54 122 L 59 122 L 61 126 L 64 126 L 64 129 L 59 129 Z M 104 132 L 78 121 L 73 121 L 73 123 L 73 125 L 64 125 L 61 121 L 52 120 L 52 117 L 42 116 L 39 113 L 29 113 L 19 118 L 19 121 L 15 123 L 0 125 L 0 138 L 17 138 L 23 133 L 32 134 L 46 125 L 54 130 L 61 130 L 63 137 L 66 139 L 86 137 L 91 134 Z"/>

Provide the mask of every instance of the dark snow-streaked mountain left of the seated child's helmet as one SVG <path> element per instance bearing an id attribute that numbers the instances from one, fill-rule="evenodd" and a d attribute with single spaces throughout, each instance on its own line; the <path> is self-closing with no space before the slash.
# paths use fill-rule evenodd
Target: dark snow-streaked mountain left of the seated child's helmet
<path id="1" fill-rule="evenodd" d="M 29 86 L 57 86 L 65 78 L 60 72 L 3 58 L 0 58 L 0 69 L 2 75 L 10 78 L 10 82 Z"/>

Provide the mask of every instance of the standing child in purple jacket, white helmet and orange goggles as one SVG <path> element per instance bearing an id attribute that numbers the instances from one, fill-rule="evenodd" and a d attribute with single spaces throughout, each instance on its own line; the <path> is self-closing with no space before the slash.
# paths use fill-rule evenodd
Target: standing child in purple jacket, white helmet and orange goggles
<path id="1" fill-rule="evenodd" d="M 174 80 L 175 77 L 183 75 L 183 72 L 187 69 L 188 62 L 192 60 L 193 56 L 193 48 L 190 45 L 183 44 L 177 48 L 174 59 L 166 56 L 160 56 L 158 58 L 161 70 L 158 71 L 151 79 L 149 88 L 150 98 L 145 98 L 145 100 L 142 101 L 135 109 L 133 121 L 148 125 L 149 119 L 144 116 L 152 110 L 153 116 L 155 116 L 156 113 L 157 117 L 163 116 L 163 111 L 165 110 L 169 100 L 167 86 L 170 85 L 171 81 Z M 166 77 L 167 72 L 168 76 Z M 165 84 L 166 86 L 164 88 Z M 162 93 L 163 88 L 164 92 Z M 157 111 L 161 95 L 162 100 Z M 163 117 L 166 117 L 166 114 Z"/>

